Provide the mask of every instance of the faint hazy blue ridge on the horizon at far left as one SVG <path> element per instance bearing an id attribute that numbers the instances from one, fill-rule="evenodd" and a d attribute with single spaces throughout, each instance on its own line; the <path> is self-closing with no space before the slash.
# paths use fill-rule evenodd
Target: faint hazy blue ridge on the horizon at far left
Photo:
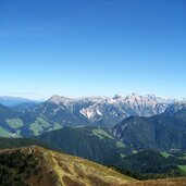
<path id="1" fill-rule="evenodd" d="M 13 106 L 25 103 L 25 102 L 27 102 L 27 103 L 32 103 L 32 102 L 37 103 L 39 101 L 29 100 L 29 99 L 20 98 L 20 97 L 9 97 L 9 96 L 1 96 L 0 97 L 0 104 L 8 106 L 8 107 L 13 107 Z"/>

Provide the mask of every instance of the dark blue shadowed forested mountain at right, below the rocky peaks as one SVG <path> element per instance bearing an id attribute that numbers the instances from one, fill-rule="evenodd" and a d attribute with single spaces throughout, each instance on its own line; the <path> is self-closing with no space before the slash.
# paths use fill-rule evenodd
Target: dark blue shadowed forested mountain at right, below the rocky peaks
<path id="1" fill-rule="evenodd" d="M 114 136 L 136 149 L 186 149 L 185 109 L 151 117 L 132 116 L 113 128 Z"/>

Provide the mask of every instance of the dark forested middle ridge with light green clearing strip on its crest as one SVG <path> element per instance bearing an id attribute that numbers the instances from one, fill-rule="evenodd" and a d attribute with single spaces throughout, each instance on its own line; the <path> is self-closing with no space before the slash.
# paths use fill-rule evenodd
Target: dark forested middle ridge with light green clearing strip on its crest
<path id="1" fill-rule="evenodd" d="M 63 127 L 37 136 L 37 139 L 65 153 L 94 160 L 103 164 L 113 164 L 121 153 L 132 150 L 116 140 L 107 129 L 97 126 Z"/>

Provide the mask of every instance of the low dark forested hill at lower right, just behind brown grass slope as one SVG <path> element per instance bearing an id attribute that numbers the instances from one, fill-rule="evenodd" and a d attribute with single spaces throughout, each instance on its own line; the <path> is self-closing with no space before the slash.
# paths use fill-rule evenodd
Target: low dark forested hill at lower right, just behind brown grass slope
<path id="1" fill-rule="evenodd" d="M 124 157 L 115 168 L 138 179 L 150 179 L 186 176 L 185 165 L 181 157 L 149 149 Z"/>

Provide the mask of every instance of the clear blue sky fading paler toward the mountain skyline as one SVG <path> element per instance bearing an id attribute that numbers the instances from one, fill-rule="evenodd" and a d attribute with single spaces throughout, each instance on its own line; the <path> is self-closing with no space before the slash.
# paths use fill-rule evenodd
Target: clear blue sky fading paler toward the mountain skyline
<path id="1" fill-rule="evenodd" d="M 185 0 L 0 0 L 0 95 L 186 97 Z"/>

